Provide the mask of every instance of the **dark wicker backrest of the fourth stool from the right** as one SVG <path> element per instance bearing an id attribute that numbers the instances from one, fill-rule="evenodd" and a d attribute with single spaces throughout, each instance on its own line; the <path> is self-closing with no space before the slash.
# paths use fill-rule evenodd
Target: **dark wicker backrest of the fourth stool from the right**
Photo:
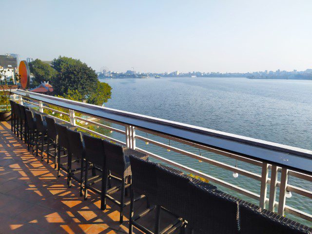
<path id="1" fill-rule="evenodd" d="M 157 164 L 142 160 L 136 156 L 129 156 L 132 172 L 131 186 L 139 195 L 146 195 L 149 199 L 156 201 L 157 197 Z"/>

